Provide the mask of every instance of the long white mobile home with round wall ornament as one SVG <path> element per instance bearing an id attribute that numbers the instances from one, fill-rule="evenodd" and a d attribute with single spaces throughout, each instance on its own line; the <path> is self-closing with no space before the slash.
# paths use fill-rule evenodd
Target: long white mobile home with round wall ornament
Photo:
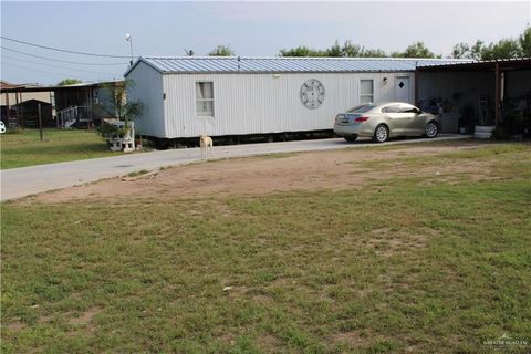
<path id="1" fill-rule="evenodd" d="M 188 138 L 330 131 L 361 103 L 412 102 L 418 65 L 441 59 L 140 58 L 125 73 L 142 134 Z"/>

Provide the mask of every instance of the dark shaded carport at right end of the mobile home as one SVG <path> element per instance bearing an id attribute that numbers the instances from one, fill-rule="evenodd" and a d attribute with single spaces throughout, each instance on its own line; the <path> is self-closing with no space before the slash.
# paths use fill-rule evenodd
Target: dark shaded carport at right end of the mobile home
<path id="1" fill-rule="evenodd" d="M 415 102 L 419 105 L 442 101 L 462 115 L 466 105 L 475 110 L 477 124 L 482 106 L 499 125 L 507 117 L 518 116 L 524 132 L 531 124 L 531 58 L 476 61 L 417 66 Z"/>

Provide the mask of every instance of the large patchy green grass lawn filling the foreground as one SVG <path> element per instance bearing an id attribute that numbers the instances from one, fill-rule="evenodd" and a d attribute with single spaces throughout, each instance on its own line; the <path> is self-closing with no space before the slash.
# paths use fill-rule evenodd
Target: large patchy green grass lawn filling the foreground
<path id="1" fill-rule="evenodd" d="M 421 164 L 475 159 L 489 179 L 3 204 L 2 353 L 529 353 L 531 146 Z"/>

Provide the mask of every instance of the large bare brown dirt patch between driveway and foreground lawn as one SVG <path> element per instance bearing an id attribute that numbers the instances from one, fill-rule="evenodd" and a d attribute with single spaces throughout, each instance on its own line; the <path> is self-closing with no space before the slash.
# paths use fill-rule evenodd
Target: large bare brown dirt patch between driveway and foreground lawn
<path id="1" fill-rule="evenodd" d="M 466 176 L 487 178 L 489 166 L 480 162 L 449 165 L 402 164 L 408 157 L 430 157 L 482 146 L 460 142 L 456 145 L 397 146 L 389 149 L 342 149 L 301 154 L 210 160 L 162 169 L 145 178 L 112 178 L 81 187 L 41 194 L 25 201 L 62 202 L 80 199 L 146 198 L 165 200 L 190 196 L 263 195 L 289 190 L 352 189 L 391 177 L 433 176 L 444 181 Z M 274 156 L 273 156 L 274 157 Z M 375 165 L 366 164 L 375 162 Z M 382 167 L 381 165 L 387 168 Z M 379 166 L 379 167 L 378 167 Z"/>

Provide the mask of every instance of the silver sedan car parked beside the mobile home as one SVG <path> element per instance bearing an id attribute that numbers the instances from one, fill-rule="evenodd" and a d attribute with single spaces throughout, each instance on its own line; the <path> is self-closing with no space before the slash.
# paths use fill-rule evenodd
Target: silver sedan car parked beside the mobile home
<path id="1" fill-rule="evenodd" d="M 372 137 L 376 143 L 394 136 L 431 138 L 439 132 L 439 116 L 403 102 L 364 104 L 337 114 L 334 122 L 334 133 L 347 142 L 354 142 L 358 136 Z"/>

